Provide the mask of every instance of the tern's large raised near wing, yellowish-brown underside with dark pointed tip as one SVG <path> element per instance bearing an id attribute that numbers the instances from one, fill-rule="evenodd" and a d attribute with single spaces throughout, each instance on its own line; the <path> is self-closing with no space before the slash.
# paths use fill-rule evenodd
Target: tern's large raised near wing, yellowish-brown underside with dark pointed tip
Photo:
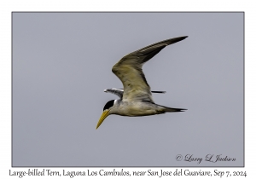
<path id="1" fill-rule="evenodd" d="M 117 62 L 112 72 L 121 80 L 124 86 L 123 101 L 153 101 L 150 86 L 143 73 L 143 64 L 158 54 L 167 45 L 177 43 L 186 37 L 172 38 L 151 44 L 125 55 Z"/>

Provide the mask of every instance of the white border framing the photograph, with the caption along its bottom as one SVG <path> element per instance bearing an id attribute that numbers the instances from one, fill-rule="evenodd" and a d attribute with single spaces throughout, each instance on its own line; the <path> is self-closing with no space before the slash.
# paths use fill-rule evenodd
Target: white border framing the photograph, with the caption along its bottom
<path id="1" fill-rule="evenodd" d="M 95 1 L 7 1 L 0 3 L 0 176 L 1 178 L 9 176 L 9 170 L 25 170 L 25 168 L 11 167 L 11 12 L 12 11 L 244 11 L 245 12 L 245 168 L 217 168 L 217 170 L 241 170 L 247 171 L 246 178 L 253 178 L 255 175 L 255 113 L 253 101 L 255 101 L 255 5 L 253 1 L 113 1 L 113 0 L 95 0 Z M 254 7 L 254 8 L 253 8 Z M 236 37 L 234 37 L 236 38 Z M 68 169 L 68 168 L 66 168 Z M 189 170 L 211 170 L 214 168 L 185 168 Z M 52 170 L 62 170 L 61 168 L 52 168 Z M 86 168 L 71 170 L 87 170 Z M 90 168 L 90 170 L 94 170 Z M 100 170 L 96 168 L 95 170 Z M 111 170 L 111 168 L 106 168 Z M 147 168 L 126 168 L 125 170 L 148 170 Z M 154 168 L 152 170 L 160 170 Z M 164 170 L 175 170 L 174 168 L 164 168 Z M 2 177 L 5 176 L 5 177 Z M 17 178 L 17 176 L 15 176 Z M 75 176 L 79 177 L 79 176 Z M 88 177 L 88 176 L 84 176 Z M 84 178 L 83 177 L 83 178 Z M 169 176 L 170 177 L 170 176 Z M 233 176 L 234 177 L 234 176 Z M 39 178 L 39 177 L 32 177 Z M 40 176 L 42 178 L 42 176 Z M 53 177 L 50 177 L 53 178 Z M 68 177 L 69 178 L 69 177 Z M 82 178 L 82 177 L 79 177 Z M 108 178 L 113 178 L 108 176 Z M 118 177 L 125 178 L 125 177 Z M 127 178 L 127 177 L 126 177 Z M 140 178 L 146 178 L 140 177 Z M 156 177 L 150 177 L 156 178 Z M 203 176 L 203 178 L 206 178 Z M 255 177 L 254 177 L 255 178 Z"/>

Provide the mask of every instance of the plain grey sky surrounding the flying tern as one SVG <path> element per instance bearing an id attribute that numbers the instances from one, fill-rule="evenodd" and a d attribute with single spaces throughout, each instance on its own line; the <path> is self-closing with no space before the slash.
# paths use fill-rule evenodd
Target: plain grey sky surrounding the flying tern
<path id="1" fill-rule="evenodd" d="M 13 13 L 12 165 L 243 166 L 243 15 Z M 155 103 L 188 110 L 111 115 L 96 130 L 106 102 L 118 99 L 103 90 L 122 88 L 112 66 L 180 36 L 189 38 L 143 72 L 152 90 L 166 91 Z"/>

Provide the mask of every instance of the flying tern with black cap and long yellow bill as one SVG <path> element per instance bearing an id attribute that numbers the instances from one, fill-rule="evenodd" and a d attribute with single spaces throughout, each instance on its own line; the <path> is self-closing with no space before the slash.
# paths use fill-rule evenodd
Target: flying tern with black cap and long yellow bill
<path id="1" fill-rule="evenodd" d="M 167 45 L 177 43 L 188 36 L 171 38 L 154 43 L 125 55 L 112 68 L 112 72 L 121 80 L 124 89 L 107 89 L 108 93 L 118 95 L 118 100 L 108 101 L 103 107 L 103 113 L 96 129 L 110 114 L 120 116 L 148 116 L 160 113 L 183 112 L 186 109 L 164 107 L 155 104 L 152 93 L 165 93 L 165 91 L 151 91 L 143 73 L 143 64 L 157 55 Z"/>

